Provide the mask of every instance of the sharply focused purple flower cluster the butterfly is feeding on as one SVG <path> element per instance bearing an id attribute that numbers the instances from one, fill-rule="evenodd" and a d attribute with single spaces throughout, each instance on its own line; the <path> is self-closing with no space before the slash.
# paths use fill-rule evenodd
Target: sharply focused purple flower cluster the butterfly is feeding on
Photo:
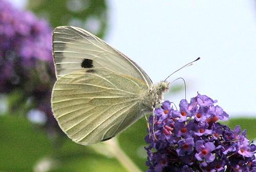
<path id="1" fill-rule="evenodd" d="M 205 95 L 181 100 L 180 110 L 169 101 L 150 116 L 150 131 L 145 137 L 147 162 L 151 171 L 253 171 L 256 172 L 256 145 L 241 133 L 218 120 L 228 114 Z"/>

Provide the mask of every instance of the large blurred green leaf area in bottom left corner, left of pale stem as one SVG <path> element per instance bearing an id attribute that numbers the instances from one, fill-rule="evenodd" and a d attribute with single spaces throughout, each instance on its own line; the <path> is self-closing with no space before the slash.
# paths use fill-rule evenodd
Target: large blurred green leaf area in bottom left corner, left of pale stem
<path id="1" fill-rule="evenodd" d="M 41 160 L 50 162 L 50 171 L 127 171 L 115 158 L 66 135 L 50 140 L 24 117 L 0 116 L 0 131 L 0 171 L 33 171 Z"/>

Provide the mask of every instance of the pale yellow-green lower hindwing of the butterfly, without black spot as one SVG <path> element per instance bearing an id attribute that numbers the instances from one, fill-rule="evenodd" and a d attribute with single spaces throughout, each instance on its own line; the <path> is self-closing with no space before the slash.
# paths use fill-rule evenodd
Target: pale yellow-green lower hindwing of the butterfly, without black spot
<path id="1" fill-rule="evenodd" d="M 52 109 L 61 129 L 79 144 L 108 140 L 141 116 L 147 84 L 106 69 L 82 69 L 60 77 Z"/>

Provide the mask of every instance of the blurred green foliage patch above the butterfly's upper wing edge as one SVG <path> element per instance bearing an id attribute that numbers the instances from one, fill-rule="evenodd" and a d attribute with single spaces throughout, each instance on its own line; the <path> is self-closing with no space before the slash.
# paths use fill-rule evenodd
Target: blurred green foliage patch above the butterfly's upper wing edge
<path id="1" fill-rule="evenodd" d="M 108 7 L 105 0 L 30 0 L 28 8 L 38 16 L 57 26 L 86 28 L 103 37 L 108 23 Z"/>

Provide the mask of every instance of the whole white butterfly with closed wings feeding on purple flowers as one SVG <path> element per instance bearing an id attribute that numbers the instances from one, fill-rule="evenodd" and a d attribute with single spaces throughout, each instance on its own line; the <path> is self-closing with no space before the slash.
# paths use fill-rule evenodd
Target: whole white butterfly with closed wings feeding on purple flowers
<path id="1" fill-rule="evenodd" d="M 153 85 L 134 61 L 80 28 L 55 28 L 53 55 L 53 114 L 62 131 L 79 144 L 121 133 L 152 112 L 168 89 L 168 82 Z"/>

